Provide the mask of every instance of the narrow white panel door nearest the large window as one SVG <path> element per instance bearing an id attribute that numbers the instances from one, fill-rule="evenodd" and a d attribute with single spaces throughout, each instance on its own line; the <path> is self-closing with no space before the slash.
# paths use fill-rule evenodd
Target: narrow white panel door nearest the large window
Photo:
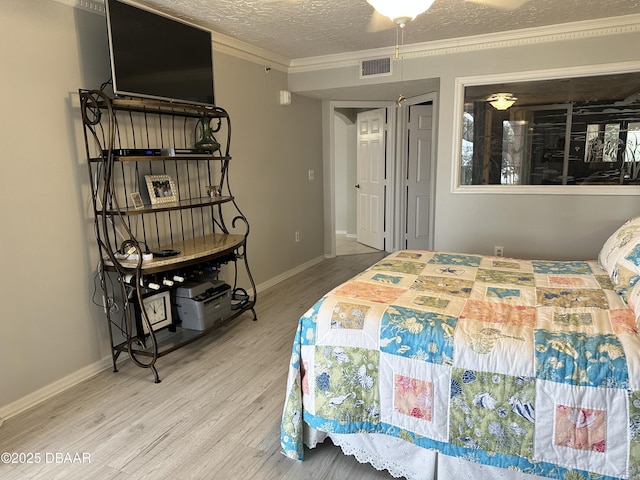
<path id="1" fill-rule="evenodd" d="M 409 107 L 406 248 L 430 248 L 433 105 Z"/>

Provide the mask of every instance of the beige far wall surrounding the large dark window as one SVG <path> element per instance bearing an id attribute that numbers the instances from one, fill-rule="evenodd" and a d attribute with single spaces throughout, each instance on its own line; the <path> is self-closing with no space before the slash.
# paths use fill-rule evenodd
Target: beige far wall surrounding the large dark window
<path id="1" fill-rule="evenodd" d="M 639 34 L 608 35 L 438 58 L 442 71 L 435 248 L 521 258 L 596 258 L 608 236 L 640 213 L 637 195 L 508 195 L 451 192 L 456 77 L 638 61 Z M 579 187 L 576 187 L 579 188 Z"/>

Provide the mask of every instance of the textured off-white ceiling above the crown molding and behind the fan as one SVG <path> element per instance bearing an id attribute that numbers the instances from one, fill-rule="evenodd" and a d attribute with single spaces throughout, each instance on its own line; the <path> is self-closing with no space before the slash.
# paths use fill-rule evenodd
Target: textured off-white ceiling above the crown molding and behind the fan
<path id="1" fill-rule="evenodd" d="M 640 0 L 435 0 L 404 29 L 404 43 L 640 14 Z M 475 2 L 480 2 L 475 3 Z M 396 28 L 366 0 L 137 0 L 289 60 L 395 45 Z M 522 3 L 502 0 L 502 3 Z"/>

